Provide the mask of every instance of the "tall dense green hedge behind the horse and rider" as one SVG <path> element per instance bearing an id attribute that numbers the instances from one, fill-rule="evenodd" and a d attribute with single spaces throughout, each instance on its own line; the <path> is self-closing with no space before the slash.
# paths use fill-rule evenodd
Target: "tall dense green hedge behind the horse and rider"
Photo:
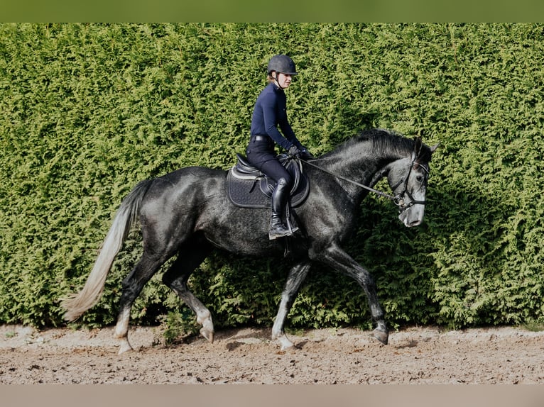
<path id="1" fill-rule="evenodd" d="M 425 223 L 361 207 L 347 250 L 374 274 L 392 326 L 544 320 L 542 24 L 1 24 L 0 323 L 62 324 L 121 200 L 179 167 L 227 169 L 248 139 L 266 63 L 288 53 L 291 123 L 314 154 L 367 127 L 435 154 Z M 385 186 L 383 186 L 385 187 Z M 116 318 L 140 254 L 131 233 L 104 296 Z M 217 326 L 270 325 L 288 265 L 216 254 L 190 279 Z M 156 276 L 134 306 L 185 306 Z M 293 327 L 369 325 L 359 286 L 316 266 Z"/>

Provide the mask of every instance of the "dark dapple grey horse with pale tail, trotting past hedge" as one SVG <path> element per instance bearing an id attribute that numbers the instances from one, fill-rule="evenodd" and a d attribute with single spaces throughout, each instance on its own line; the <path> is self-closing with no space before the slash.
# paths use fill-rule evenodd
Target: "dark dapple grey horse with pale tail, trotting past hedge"
<path id="1" fill-rule="evenodd" d="M 64 318 L 76 320 L 97 303 L 111 264 L 139 219 L 143 254 L 121 282 L 114 329 L 114 337 L 120 342 L 119 354 L 132 350 L 128 332 L 135 299 L 153 274 L 175 255 L 162 282 L 192 309 L 202 325 L 200 334 L 213 342 L 212 314 L 187 288 L 187 280 L 217 249 L 292 262 L 271 331 L 272 340 L 279 342 L 281 350 L 294 346 L 285 335 L 284 324 L 315 262 L 357 281 L 366 294 L 375 325 L 372 335 L 387 345 L 389 333 L 374 279 L 341 246 L 354 230 L 361 202 L 371 191 L 398 206 L 398 218 L 406 227 L 420 225 L 429 162 L 437 147 L 423 144 L 419 136 L 407 138 L 392 130 L 374 128 L 357 133 L 320 157 L 303 160 L 311 187 L 303 204 L 292 211 L 299 230 L 278 240 L 268 239 L 269 208 L 243 208 L 229 201 L 228 170 L 183 167 L 141 181 L 121 202 L 85 286 L 79 294 L 62 299 Z M 372 188 L 383 177 L 387 177 L 393 195 Z M 291 248 L 288 257 L 286 245 Z"/>

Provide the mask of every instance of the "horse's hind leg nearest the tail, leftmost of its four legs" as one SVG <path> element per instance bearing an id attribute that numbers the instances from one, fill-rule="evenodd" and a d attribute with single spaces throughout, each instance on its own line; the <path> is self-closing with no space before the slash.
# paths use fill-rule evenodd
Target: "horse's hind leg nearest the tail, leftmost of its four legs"
<path id="1" fill-rule="evenodd" d="M 140 294 L 143 286 L 146 285 L 165 261 L 163 259 L 153 260 L 144 252 L 141 260 L 121 283 L 123 293 L 119 301 L 119 316 L 117 317 L 117 324 L 114 330 L 114 338 L 120 340 L 119 355 L 132 350 L 129 342 L 129 319 L 132 304 Z"/>

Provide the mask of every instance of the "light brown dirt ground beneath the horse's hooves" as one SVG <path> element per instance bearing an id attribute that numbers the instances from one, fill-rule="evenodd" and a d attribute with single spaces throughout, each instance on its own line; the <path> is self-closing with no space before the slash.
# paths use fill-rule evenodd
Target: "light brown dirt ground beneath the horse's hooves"
<path id="1" fill-rule="evenodd" d="M 165 346 L 158 328 L 136 327 L 123 355 L 112 332 L 1 325 L 0 384 L 544 384 L 544 332 L 523 328 L 408 328 L 389 345 L 352 328 L 308 330 L 281 352 L 270 329 Z"/>

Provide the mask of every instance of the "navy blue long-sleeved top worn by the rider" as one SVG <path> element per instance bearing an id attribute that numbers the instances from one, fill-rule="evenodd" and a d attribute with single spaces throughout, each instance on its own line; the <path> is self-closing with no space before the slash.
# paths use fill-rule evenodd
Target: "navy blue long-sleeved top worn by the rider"
<path id="1" fill-rule="evenodd" d="M 289 150 L 293 144 L 302 150 L 303 146 L 287 120 L 286 101 L 283 89 L 273 82 L 268 84 L 255 103 L 251 117 L 251 135 L 268 135 L 285 150 Z M 285 137 L 279 132 L 278 126 Z"/>

